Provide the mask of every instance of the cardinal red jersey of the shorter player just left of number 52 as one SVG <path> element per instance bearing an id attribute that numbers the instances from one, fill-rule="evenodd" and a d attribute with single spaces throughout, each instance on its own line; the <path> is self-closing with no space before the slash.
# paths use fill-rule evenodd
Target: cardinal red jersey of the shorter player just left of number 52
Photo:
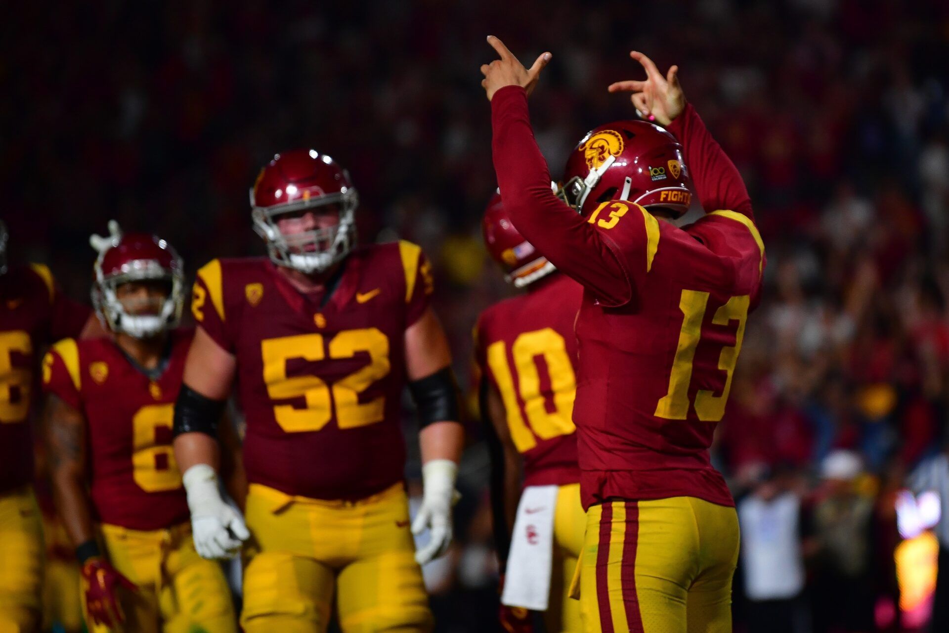
<path id="1" fill-rule="evenodd" d="M 172 450 L 175 399 L 192 329 L 172 332 L 163 369 L 149 378 L 111 338 L 54 344 L 44 389 L 81 411 L 96 519 L 130 530 L 186 522 L 188 502 Z"/>

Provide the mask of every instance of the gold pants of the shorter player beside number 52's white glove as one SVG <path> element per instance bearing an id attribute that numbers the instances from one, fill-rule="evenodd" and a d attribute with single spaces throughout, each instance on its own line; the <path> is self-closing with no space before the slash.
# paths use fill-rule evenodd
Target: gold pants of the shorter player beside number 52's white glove
<path id="1" fill-rule="evenodd" d="M 191 526 L 138 531 L 102 525 L 109 563 L 139 586 L 121 591 L 127 633 L 236 633 L 231 589 L 215 561 L 201 558 Z M 85 587 L 82 587 L 83 595 Z M 92 625 L 91 633 L 110 629 Z"/>

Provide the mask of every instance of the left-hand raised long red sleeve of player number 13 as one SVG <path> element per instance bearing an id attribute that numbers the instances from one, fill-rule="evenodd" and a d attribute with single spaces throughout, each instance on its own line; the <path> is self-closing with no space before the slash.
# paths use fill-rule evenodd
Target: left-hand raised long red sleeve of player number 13
<path id="1" fill-rule="evenodd" d="M 547 162 L 530 128 L 527 93 L 506 86 L 494 93 L 492 155 L 504 208 L 514 226 L 558 270 L 592 291 L 606 307 L 632 298 L 615 244 L 550 191 Z"/>

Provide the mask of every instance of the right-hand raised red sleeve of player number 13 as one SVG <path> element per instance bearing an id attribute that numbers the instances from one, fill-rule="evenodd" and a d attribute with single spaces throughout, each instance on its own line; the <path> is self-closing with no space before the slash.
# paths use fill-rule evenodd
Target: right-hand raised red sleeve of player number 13
<path id="1" fill-rule="evenodd" d="M 669 125 L 669 131 L 682 143 L 682 158 L 706 212 L 718 209 L 735 211 L 754 219 L 752 198 L 748 195 L 735 163 L 712 138 L 691 103 Z"/>

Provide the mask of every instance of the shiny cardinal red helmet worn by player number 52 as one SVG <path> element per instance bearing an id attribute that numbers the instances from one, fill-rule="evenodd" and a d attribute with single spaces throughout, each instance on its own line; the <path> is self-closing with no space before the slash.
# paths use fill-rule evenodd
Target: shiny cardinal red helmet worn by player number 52
<path id="1" fill-rule="evenodd" d="M 270 259 L 307 273 L 328 269 L 352 250 L 358 204 L 348 172 L 312 149 L 277 154 L 251 188 L 253 229 L 267 242 Z M 280 230 L 282 219 L 321 207 L 338 210 L 338 221 L 296 233 Z"/>

